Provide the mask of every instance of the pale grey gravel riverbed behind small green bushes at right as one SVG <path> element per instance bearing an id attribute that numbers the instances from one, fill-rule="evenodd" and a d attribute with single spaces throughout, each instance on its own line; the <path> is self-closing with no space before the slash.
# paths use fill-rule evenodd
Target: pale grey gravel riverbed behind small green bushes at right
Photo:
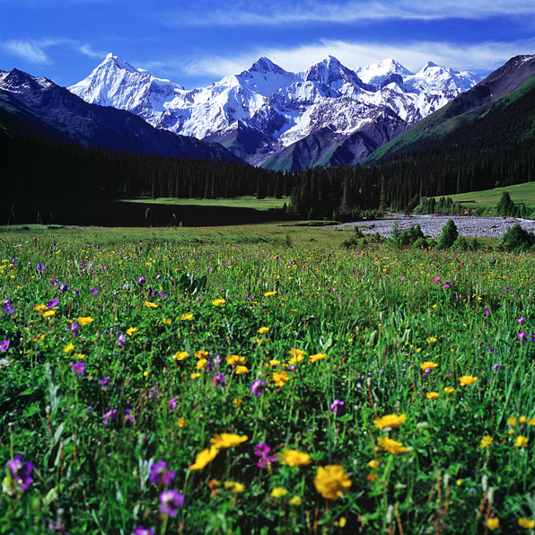
<path id="1" fill-rule="evenodd" d="M 487 238 L 501 239 L 505 231 L 515 223 L 521 224 L 522 228 L 527 231 L 535 231 L 535 221 L 531 219 L 516 219 L 514 217 L 469 217 L 467 215 L 399 215 L 392 219 L 353 221 L 330 228 L 365 226 L 366 228 L 361 228 L 364 234 L 374 234 L 377 232 L 382 236 L 389 237 L 392 226 L 397 221 L 400 231 L 405 231 L 410 226 L 419 224 L 426 237 L 438 238 L 442 234 L 443 226 L 448 219 L 452 219 L 455 222 L 457 231 L 465 237 L 486 236 Z"/>

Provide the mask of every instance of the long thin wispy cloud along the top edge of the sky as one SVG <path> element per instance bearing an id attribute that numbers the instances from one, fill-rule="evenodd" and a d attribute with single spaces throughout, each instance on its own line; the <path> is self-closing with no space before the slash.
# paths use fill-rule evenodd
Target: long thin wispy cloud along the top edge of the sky
<path id="1" fill-rule="evenodd" d="M 378 22 L 386 20 L 437 21 L 445 19 L 485 20 L 488 17 L 535 16 L 532 0 L 272 0 L 259 2 L 221 2 L 220 7 L 195 7 L 166 11 L 167 25 L 192 26 L 281 26 L 301 23 Z"/>

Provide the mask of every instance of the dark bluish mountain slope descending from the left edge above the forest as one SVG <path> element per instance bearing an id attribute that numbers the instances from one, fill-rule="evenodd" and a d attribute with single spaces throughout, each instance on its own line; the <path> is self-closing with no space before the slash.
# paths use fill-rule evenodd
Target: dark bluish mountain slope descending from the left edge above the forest
<path id="1" fill-rule="evenodd" d="M 223 146 L 158 130 L 142 118 L 88 104 L 45 78 L 0 71 L 0 120 L 7 130 L 129 153 L 238 161 Z"/>

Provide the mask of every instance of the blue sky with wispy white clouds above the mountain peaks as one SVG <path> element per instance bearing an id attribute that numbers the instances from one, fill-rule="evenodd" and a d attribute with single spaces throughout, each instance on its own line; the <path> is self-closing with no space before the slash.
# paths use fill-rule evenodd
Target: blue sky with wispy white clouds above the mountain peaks
<path id="1" fill-rule="evenodd" d="M 331 55 L 485 76 L 535 54 L 535 0 L 0 0 L 2 70 L 70 85 L 109 52 L 188 89 L 261 56 L 294 72 Z"/>

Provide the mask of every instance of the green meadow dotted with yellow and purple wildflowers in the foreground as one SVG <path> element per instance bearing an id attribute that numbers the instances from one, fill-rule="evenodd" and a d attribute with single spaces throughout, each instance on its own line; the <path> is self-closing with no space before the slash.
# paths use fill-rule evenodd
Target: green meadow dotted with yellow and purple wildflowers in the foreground
<path id="1" fill-rule="evenodd" d="M 0 532 L 534 533 L 532 255 L 331 235 L 3 233 Z"/>

